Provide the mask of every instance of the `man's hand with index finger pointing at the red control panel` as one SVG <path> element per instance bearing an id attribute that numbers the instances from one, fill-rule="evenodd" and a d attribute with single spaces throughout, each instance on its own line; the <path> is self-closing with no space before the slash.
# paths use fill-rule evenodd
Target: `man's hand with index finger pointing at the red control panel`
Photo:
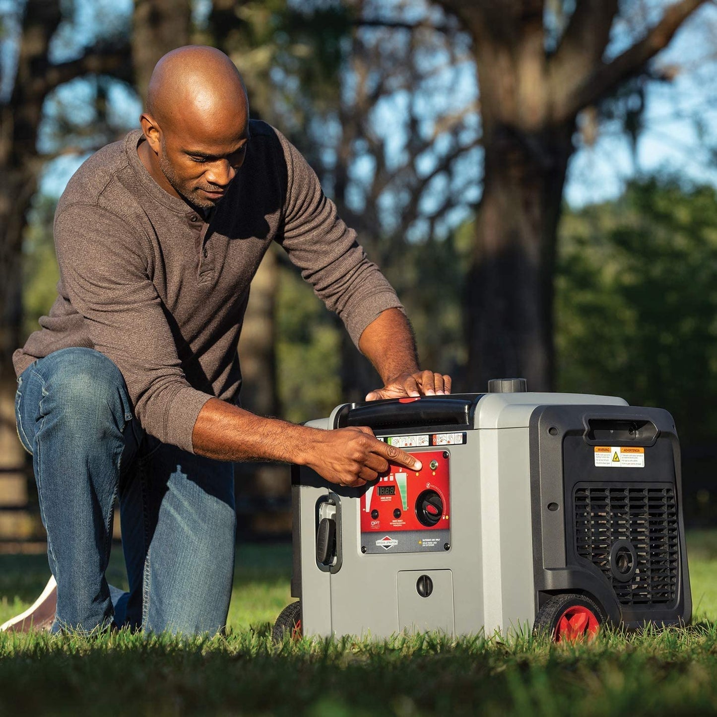
<path id="1" fill-rule="evenodd" d="M 421 470 L 421 462 L 374 437 L 365 426 L 320 431 L 315 450 L 306 462 L 329 483 L 359 488 L 389 470 L 389 461 L 410 470 Z"/>

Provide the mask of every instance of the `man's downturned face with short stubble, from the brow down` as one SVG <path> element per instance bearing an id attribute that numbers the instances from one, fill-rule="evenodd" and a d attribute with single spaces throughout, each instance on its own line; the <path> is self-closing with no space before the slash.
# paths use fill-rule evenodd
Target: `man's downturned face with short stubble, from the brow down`
<path id="1" fill-rule="evenodd" d="M 244 163 L 247 120 L 214 126 L 212 131 L 171 128 L 161 135 L 159 168 L 179 196 L 198 209 L 212 209 Z"/>

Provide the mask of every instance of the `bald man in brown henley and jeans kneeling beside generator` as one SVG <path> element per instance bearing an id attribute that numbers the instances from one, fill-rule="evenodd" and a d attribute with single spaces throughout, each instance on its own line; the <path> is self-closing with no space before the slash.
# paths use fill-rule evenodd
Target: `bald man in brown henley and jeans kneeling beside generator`
<path id="1" fill-rule="evenodd" d="M 419 371 L 394 290 L 298 151 L 250 121 L 226 55 L 166 54 L 140 119 L 67 185 L 58 297 L 14 355 L 57 581 L 39 602 L 57 600 L 53 630 L 217 632 L 232 589 L 232 461 L 295 462 L 349 486 L 388 460 L 419 467 L 369 429 L 320 431 L 237 405 L 237 340 L 270 242 L 379 371 L 385 385 L 367 398 L 448 393 L 450 378 Z M 115 497 L 128 594 L 105 579 Z"/>

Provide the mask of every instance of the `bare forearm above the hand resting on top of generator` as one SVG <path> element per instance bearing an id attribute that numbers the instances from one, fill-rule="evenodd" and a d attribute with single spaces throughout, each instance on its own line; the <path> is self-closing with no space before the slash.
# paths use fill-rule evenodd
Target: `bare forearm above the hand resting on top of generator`
<path id="1" fill-rule="evenodd" d="M 411 324 L 398 309 L 386 309 L 371 321 L 361 334 L 359 348 L 384 384 L 400 374 L 414 374 L 419 370 Z"/>

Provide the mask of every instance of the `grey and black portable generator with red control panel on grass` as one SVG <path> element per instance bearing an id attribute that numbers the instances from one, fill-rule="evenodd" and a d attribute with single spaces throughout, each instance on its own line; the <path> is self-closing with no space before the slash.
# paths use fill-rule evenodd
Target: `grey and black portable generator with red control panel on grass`
<path id="1" fill-rule="evenodd" d="M 292 595 L 274 635 L 389 637 L 687 623 L 680 446 L 663 409 L 617 397 L 485 394 L 342 404 L 415 455 L 361 488 L 292 469 Z"/>

